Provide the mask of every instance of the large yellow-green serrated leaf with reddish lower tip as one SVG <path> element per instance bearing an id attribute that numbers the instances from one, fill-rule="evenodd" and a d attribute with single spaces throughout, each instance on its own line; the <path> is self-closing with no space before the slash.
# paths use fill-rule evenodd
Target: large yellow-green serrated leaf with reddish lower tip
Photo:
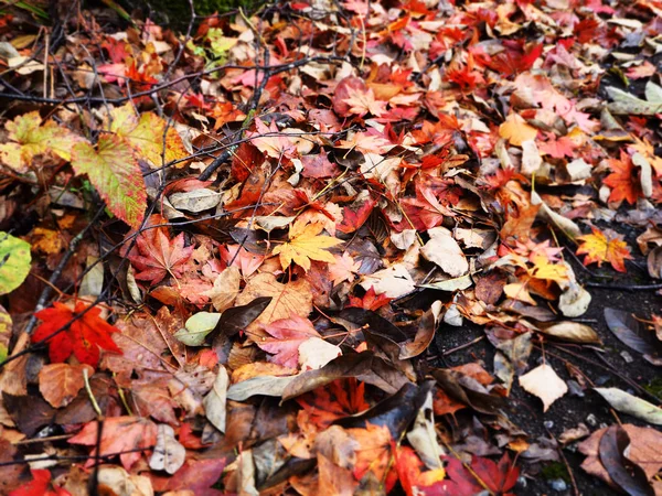
<path id="1" fill-rule="evenodd" d="M 135 229 L 140 227 L 147 192 L 134 150 L 125 140 L 102 134 L 96 150 L 78 143 L 72 151 L 72 166 L 77 174 L 87 174 L 113 214 Z"/>

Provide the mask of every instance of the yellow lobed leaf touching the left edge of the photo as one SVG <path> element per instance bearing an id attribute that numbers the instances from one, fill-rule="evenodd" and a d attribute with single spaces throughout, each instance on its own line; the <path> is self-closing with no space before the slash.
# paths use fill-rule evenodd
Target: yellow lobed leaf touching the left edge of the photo
<path id="1" fill-rule="evenodd" d="M 55 155 L 70 161 L 72 147 L 83 141 L 52 120 L 42 125 L 39 111 L 18 116 L 4 125 L 9 140 L 0 144 L 0 163 L 19 173 L 26 172 L 39 155 Z"/>

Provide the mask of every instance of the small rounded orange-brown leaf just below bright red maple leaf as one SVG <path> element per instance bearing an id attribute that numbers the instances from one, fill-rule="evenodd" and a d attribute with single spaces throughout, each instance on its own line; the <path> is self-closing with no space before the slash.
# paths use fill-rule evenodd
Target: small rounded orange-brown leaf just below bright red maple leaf
<path id="1" fill-rule="evenodd" d="M 39 390 L 54 408 L 66 407 L 85 386 L 83 370 L 92 377 L 94 368 L 89 365 L 50 364 L 39 373 Z"/>

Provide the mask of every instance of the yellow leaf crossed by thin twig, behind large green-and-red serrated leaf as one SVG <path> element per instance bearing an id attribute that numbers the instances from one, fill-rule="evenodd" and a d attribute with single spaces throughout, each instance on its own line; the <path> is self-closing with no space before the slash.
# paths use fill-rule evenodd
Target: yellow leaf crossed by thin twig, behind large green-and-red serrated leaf
<path id="1" fill-rule="evenodd" d="M 131 104 L 113 109 L 107 119 L 107 127 L 126 140 L 131 149 L 152 166 L 160 168 L 189 155 L 172 126 L 168 126 L 166 120 L 153 112 L 137 116 Z M 178 164 L 183 165 L 184 162 Z"/>

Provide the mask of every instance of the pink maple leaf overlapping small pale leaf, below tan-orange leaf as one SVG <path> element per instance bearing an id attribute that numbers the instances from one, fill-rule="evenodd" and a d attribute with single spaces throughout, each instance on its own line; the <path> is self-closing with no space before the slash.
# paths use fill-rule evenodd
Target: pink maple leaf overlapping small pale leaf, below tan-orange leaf
<path id="1" fill-rule="evenodd" d="M 274 354 L 271 360 L 289 368 L 299 366 L 299 346 L 311 337 L 321 338 L 308 319 L 292 314 L 289 319 L 281 319 L 264 326 L 271 336 L 258 341 L 256 344 L 267 353 Z"/>

